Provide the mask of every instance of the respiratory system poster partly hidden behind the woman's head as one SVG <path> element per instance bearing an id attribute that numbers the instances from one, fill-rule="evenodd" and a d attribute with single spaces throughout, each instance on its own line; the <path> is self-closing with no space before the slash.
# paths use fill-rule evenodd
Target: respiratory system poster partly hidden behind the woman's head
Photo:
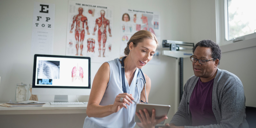
<path id="1" fill-rule="evenodd" d="M 122 9 L 121 10 L 121 44 L 120 44 L 120 54 L 124 56 L 124 48 L 131 36 L 139 30 L 148 30 L 156 35 L 159 43 L 160 40 L 160 18 L 157 12 L 136 10 L 136 9 Z M 159 63 L 158 60 L 159 51 L 156 50 L 152 63 Z M 153 62 L 152 62 L 153 61 Z"/>

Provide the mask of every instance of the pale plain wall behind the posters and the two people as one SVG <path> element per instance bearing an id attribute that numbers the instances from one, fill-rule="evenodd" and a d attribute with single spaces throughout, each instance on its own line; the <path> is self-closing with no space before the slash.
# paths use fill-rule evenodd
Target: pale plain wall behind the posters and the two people
<path id="1" fill-rule="evenodd" d="M 16 84 L 32 83 L 33 55 L 30 55 L 30 45 L 34 1 L 0 1 L 0 102 L 14 101 Z M 68 0 L 38 2 L 56 4 L 53 54 L 65 55 Z M 159 42 L 163 39 L 194 43 L 202 39 L 216 41 L 215 2 L 213 0 L 87 0 L 86 2 L 114 6 L 114 24 L 117 25 L 113 26 L 112 36 L 117 37 L 114 39 L 115 42 L 118 42 L 118 37 L 120 37 L 120 8 L 122 7 L 159 12 L 161 23 Z M 253 81 L 256 72 L 255 51 L 255 47 L 252 47 L 223 53 L 219 66 L 240 77 L 245 88 L 246 105 L 254 107 L 256 103 L 252 98 L 256 96 Z M 243 61 L 236 59 L 236 56 Z M 143 72 L 152 81 L 150 103 L 171 105 L 169 119 L 165 121 L 167 123 L 176 112 L 179 102 L 179 60 L 162 55 L 160 60 L 160 65 L 148 64 L 143 68 Z M 101 63 L 92 63 L 92 80 L 100 65 Z M 192 75 L 192 64 L 189 59 L 184 58 L 184 84 Z M 45 98 L 45 96 L 40 97 Z M 46 98 L 53 100 L 52 96 Z M 86 101 L 88 97 L 79 97 L 79 100 Z M 73 117 L 76 118 L 76 116 Z"/>

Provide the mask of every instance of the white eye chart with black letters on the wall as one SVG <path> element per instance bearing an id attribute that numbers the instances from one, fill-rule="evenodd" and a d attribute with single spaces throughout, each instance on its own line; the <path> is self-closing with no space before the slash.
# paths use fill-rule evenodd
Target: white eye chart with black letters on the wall
<path id="1" fill-rule="evenodd" d="M 31 55 L 52 54 L 55 4 L 34 2 Z"/>

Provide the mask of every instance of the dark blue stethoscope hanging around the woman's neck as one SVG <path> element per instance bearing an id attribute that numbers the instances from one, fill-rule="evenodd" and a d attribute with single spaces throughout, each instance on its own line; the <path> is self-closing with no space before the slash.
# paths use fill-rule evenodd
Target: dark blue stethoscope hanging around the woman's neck
<path id="1" fill-rule="evenodd" d="M 124 76 L 124 58 L 126 58 L 126 56 L 122 58 L 122 62 L 121 62 L 122 73 L 121 74 L 122 74 L 122 88 L 123 88 L 124 93 L 126 93 L 126 87 L 125 87 L 125 82 L 124 82 L 124 80 L 125 80 L 125 76 Z M 143 103 L 147 104 L 148 103 L 148 99 L 147 99 L 147 93 L 146 93 L 146 79 L 145 79 L 145 76 L 142 73 L 141 69 L 139 69 L 139 72 L 141 72 L 141 74 L 143 76 L 143 78 L 140 77 L 139 79 L 142 79 L 143 82 L 144 82 L 146 102 L 144 102 L 143 100 L 140 100 L 140 92 L 139 92 L 139 88 L 138 88 L 138 81 L 139 81 L 139 79 L 137 79 L 137 82 L 136 82 L 136 87 L 137 87 L 137 90 L 138 90 L 138 98 L 139 98 L 140 102 L 143 102 Z M 139 72 L 137 74 L 137 77 L 139 76 Z"/>

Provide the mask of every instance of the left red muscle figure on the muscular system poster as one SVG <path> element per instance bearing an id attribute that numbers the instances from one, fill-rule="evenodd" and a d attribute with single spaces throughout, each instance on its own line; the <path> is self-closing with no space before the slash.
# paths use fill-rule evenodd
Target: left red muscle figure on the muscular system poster
<path id="1" fill-rule="evenodd" d="M 87 18 L 83 15 L 83 8 L 78 8 L 78 14 L 73 17 L 73 23 L 71 25 L 70 33 L 72 33 L 72 29 L 75 27 L 76 23 L 76 29 L 75 29 L 75 38 L 76 38 L 76 55 L 78 55 L 78 48 L 79 48 L 79 42 L 80 42 L 80 56 L 83 56 L 83 41 L 84 41 L 84 27 L 87 30 L 87 35 L 90 35 L 89 28 L 87 26 Z M 85 26 L 84 26 L 85 23 Z M 80 36 L 80 39 L 79 39 Z"/>

